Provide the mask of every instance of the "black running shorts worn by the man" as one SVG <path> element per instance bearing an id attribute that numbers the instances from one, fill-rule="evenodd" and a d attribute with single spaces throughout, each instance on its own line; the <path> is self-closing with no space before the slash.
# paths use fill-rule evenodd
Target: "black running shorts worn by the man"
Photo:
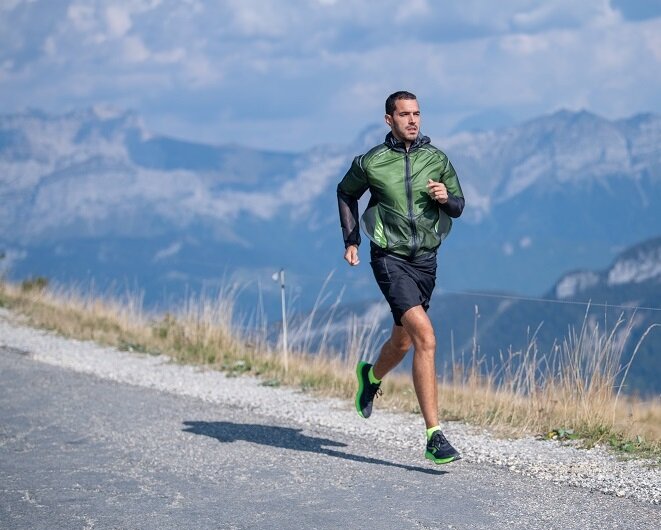
<path id="1" fill-rule="evenodd" d="M 407 260 L 372 245 L 370 256 L 376 283 L 386 297 L 395 325 L 402 325 L 402 315 L 412 307 L 421 305 L 427 311 L 436 285 L 436 253 Z"/>

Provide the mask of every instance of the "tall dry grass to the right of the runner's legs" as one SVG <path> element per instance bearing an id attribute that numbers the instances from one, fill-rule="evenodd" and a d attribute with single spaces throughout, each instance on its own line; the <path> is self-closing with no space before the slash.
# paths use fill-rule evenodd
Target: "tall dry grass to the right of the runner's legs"
<path id="1" fill-rule="evenodd" d="M 522 432 L 561 428 L 592 436 L 612 434 L 661 440 L 661 402 L 624 397 L 626 375 L 647 335 L 645 330 L 626 364 L 624 353 L 634 317 L 620 315 L 612 329 L 602 329 L 586 310 L 580 328 L 571 327 L 560 343 L 540 352 L 535 330 L 525 349 L 487 366 L 484 357 L 454 361 L 441 383 L 446 414 Z M 601 433 L 601 434 L 599 434 Z"/>

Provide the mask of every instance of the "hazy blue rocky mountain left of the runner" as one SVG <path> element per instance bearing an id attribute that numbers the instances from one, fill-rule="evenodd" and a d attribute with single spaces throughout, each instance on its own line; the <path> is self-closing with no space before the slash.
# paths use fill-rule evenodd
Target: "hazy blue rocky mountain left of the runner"
<path id="1" fill-rule="evenodd" d="M 311 267 L 314 200 L 347 160 L 330 147 L 287 154 L 155 136 L 113 109 L 3 116 L 3 265 L 17 277 L 137 286 L 151 301 L 228 276 L 268 289 L 275 267 L 290 279 L 293 264 Z M 323 279 L 332 266 L 314 268 Z"/>

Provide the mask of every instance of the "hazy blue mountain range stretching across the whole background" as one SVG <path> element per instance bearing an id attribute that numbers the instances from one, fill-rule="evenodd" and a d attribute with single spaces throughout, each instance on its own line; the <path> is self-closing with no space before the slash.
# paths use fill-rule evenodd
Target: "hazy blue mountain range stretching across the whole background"
<path id="1" fill-rule="evenodd" d="M 287 271 L 299 311 L 334 271 L 329 285 L 346 287 L 347 304 L 371 303 L 380 295 L 366 250 L 359 267 L 342 261 L 335 187 L 352 158 L 386 132 L 371 126 L 345 144 L 286 153 L 253 149 L 249 139 L 214 146 L 154 134 L 138 114 L 102 106 L 2 115 L 0 266 L 13 278 L 140 290 L 152 306 L 237 282 L 243 307 L 263 295 L 271 318 L 279 310 L 275 270 Z M 503 129 L 431 136 L 466 196 L 439 254 L 441 326 L 466 306 L 462 321 L 472 329 L 470 300 L 479 293 L 630 302 L 628 288 L 613 296 L 617 285 L 599 271 L 611 274 L 621 252 L 661 231 L 661 117 L 561 110 Z M 565 275 L 571 270 L 582 272 Z M 637 305 L 659 305 L 637 296 Z M 482 296 L 481 341 L 489 330 L 493 347 L 513 342 L 508 322 L 521 320 L 512 311 L 523 305 L 508 304 L 505 311 L 503 299 Z M 555 314 L 566 306 L 554 304 Z M 522 311 L 536 326 L 541 315 Z M 460 327 L 452 325 L 459 335 Z"/>

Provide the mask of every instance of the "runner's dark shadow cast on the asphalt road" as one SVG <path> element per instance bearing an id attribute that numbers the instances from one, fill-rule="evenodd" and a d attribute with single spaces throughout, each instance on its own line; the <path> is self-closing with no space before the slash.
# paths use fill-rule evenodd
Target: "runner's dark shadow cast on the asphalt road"
<path id="1" fill-rule="evenodd" d="M 406 469 L 407 471 L 417 471 L 430 475 L 444 475 L 447 471 L 439 469 L 429 469 L 418 466 L 407 466 L 396 462 L 388 462 L 379 458 L 369 456 L 354 455 L 343 453 L 331 449 L 330 447 L 346 447 L 347 444 L 328 440 L 326 438 L 315 438 L 302 434 L 303 429 L 292 429 L 290 427 L 276 427 L 272 425 L 256 425 L 250 423 L 232 423 L 229 421 L 185 421 L 186 426 L 182 429 L 184 432 L 201 434 L 215 438 L 219 442 L 231 443 L 237 440 L 244 440 L 271 447 L 281 447 L 283 449 L 293 449 L 295 451 L 308 451 L 310 453 L 319 453 L 322 455 L 344 458 L 354 462 L 364 464 L 377 464 L 380 466 L 392 466 Z"/>

